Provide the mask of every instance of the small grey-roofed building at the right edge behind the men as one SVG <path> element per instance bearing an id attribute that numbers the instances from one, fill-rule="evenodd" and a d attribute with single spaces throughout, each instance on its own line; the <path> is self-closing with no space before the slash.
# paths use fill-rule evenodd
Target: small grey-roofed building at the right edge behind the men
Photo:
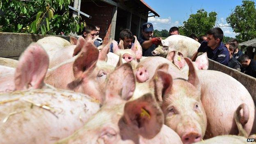
<path id="1" fill-rule="evenodd" d="M 255 55 L 256 39 L 251 39 L 249 41 L 239 43 L 239 45 L 242 47 L 246 47 L 245 55 L 248 55 L 251 59 L 256 59 L 256 55 Z"/>

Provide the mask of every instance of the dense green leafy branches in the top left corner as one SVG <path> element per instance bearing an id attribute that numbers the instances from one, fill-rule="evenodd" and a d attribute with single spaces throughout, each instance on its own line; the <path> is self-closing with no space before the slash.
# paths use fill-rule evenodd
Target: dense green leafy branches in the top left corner
<path id="1" fill-rule="evenodd" d="M 73 1 L 73 0 L 72 0 Z M 1 0 L 0 31 L 34 34 L 80 32 L 86 26 L 69 13 L 71 0 Z"/>

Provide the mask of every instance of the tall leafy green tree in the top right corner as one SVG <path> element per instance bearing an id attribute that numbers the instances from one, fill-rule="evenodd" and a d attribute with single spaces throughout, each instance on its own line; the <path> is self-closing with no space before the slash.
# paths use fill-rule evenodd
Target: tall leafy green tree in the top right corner
<path id="1" fill-rule="evenodd" d="M 254 1 L 243 0 L 241 6 L 226 18 L 233 31 L 238 33 L 238 41 L 248 41 L 256 37 L 256 9 Z"/>

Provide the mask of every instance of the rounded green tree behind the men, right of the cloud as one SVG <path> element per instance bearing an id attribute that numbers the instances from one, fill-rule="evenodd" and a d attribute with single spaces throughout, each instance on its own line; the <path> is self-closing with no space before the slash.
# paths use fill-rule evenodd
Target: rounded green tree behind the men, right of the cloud
<path id="1" fill-rule="evenodd" d="M 183 22 L 183 26 L 179 27 L 181 35 L 189 36 L 196 34 L 198 37 L 205 35 L 208 30 L 214 27 L 217 20 L 215 11 L 209 14 L 204 9 L 199 9 L 196 14 L 190 14 L 187 21 Z"/>

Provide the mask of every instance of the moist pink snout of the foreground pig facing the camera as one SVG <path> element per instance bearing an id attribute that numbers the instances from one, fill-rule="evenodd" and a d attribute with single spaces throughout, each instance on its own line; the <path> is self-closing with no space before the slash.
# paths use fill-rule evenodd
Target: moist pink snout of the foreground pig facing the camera
<path id="1" fill-rule="evenodd" d="M 181 137 L 183 144 L 192 144 L 194 142 L 199 142 L 201 139 L 202 135 L 197 133 L 195 130 L 191 130 Z"/>

